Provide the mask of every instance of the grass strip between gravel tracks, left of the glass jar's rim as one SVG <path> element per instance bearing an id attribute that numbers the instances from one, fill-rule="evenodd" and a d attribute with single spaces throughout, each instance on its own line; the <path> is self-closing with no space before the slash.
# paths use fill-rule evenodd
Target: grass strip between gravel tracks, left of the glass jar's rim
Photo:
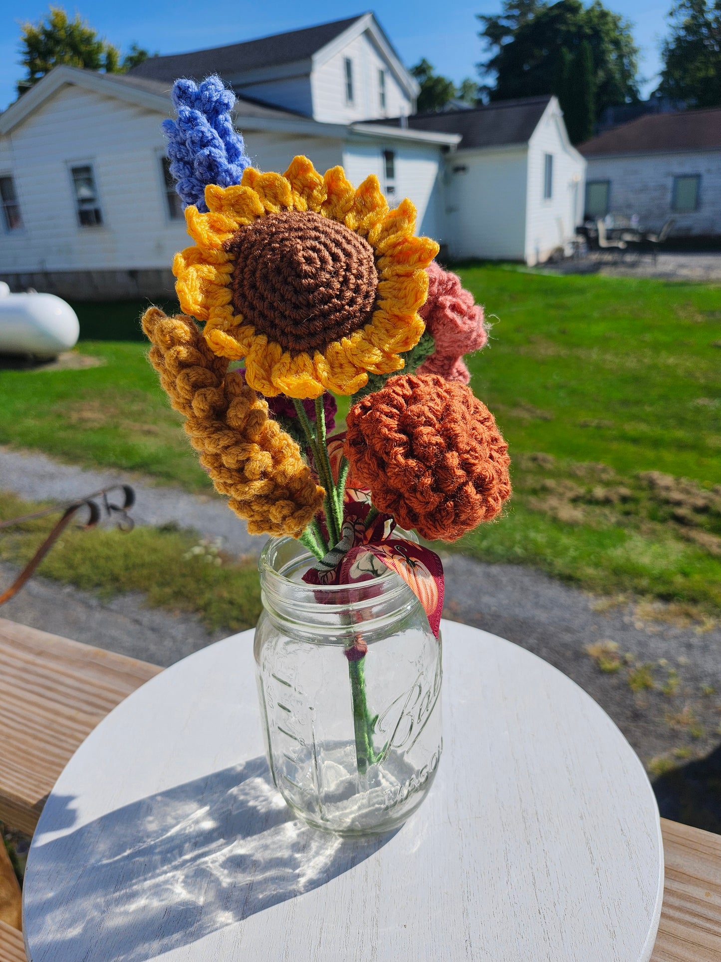
<path id="1" fill-rule="evenodd" d="M 0 492 L 0 519 L 29 514 L 36 505 Z M 25 564 L 56 519 L 37 519 L 0 531 L 0 560 Z M 37 570 L 103 598 L 142 592 L 148 605 L 200 614 L 209 630 L 240 631 L 261 612 L 255 558 L 234 558 L 222 545 L 176 525 L 66 529 Z"/>

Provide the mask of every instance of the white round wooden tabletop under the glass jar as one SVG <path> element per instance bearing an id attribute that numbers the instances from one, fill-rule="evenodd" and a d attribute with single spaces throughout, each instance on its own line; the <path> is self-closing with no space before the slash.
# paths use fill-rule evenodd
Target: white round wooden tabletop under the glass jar
<path id="1" fill-rule="evenodd" d="M 535 655 L 443 622 L 443 756 L 390 835 L 293 819 L 253 632 L 123 701 L 62 772 L 27 864 L 32 962 L 648 962 L 659 813 L 634 751 Z"/>

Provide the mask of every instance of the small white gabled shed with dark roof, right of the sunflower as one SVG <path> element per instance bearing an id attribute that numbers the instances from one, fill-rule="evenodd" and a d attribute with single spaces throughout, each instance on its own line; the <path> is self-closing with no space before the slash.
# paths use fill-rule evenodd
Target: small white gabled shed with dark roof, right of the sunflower
<path id="1" fill-rule="evenodd" d="M 445 235 L 454 260 L 546 261 L 584 214 L 585 161 L 556 97 L 408 117 L 411 130 L 460 134 L 445 162 Z"/>

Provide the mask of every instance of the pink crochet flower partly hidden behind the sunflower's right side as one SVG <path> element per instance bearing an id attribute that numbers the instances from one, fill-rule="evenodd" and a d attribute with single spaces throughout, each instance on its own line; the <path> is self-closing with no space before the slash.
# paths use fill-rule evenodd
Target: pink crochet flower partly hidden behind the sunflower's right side
<path id="1" fill-rule="evenodd" d="M 484 309 L 464 291 L 460 277 L 442 270 L 435 261 L 426 267 L 428 300 L 420 309 L 426 330 L 435 341 L 435 351 L 418 368 L 418 374 L 440 374 L 448 381 L 468 384 L 471 375 L 463 355 L 480 350 L 488 340 Z"/>

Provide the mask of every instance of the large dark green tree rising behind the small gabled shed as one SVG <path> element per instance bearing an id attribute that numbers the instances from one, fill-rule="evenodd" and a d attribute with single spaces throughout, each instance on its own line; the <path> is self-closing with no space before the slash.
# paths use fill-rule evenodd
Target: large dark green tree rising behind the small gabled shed
<path id="1" fill-rule="evenodd" d="M 588 55 L 580 56 L 584 42 L 591 60 L 591 83 L 584 91 L 587 105 L 593 95 L 591 123 L 606 107 L 638 100 L 638 48 L 631 24 L 601 0 L 589 7 L 581 0 L 503 0 L 501 13 L 481 14 L 479 20 L 488 58 L 478 65 L 494 81 L 482 88 L 491 100 L 557 91 L 564 69 L 567 86 L 573 86 L 572 74 L 587 76 Z"/>

